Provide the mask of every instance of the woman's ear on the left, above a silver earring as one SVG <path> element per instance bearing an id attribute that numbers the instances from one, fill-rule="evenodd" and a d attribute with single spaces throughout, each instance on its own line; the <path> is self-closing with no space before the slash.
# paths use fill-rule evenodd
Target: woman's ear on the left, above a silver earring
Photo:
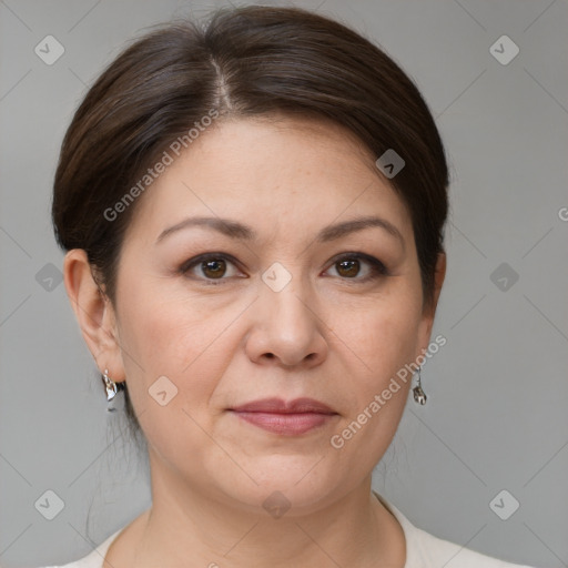
<path id="1" fill-rule="evenodd" d="M 115 383 L 124 381 L 114 310 L 94 281 L 83 248 L 72 248 L 65 254 L 63 278 L 81 333 L 99 369 L 108 368 Z"/>

